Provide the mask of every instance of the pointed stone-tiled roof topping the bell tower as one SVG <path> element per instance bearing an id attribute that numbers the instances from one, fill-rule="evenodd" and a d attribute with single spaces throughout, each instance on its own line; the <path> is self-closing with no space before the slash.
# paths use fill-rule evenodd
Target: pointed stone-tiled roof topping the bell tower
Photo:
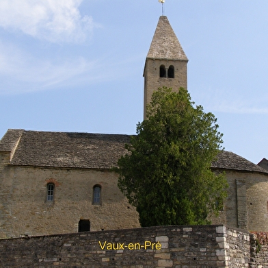
<path id="1" fill-rule="evenodd" d="M 147 58 L 188 61 L 167 16 L 159 18 Z"/>

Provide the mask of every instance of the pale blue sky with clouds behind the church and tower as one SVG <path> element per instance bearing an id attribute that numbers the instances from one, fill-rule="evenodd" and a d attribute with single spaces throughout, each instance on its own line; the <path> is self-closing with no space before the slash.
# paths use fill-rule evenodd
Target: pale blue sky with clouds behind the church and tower
<path id="1" fill-rule="evenodd" d="M 1 0 L 0 136 L 25 130 L 135 134 L 157 0 Z M 224 147 L 268 158 L 268 1 L 166 0 L 188 90 Z"/>

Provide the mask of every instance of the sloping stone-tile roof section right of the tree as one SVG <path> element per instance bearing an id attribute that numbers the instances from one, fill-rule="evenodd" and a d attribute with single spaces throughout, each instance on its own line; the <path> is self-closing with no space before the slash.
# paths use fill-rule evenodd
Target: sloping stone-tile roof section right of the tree
<path id="1" fill-rule="evenodd" d="M 232 153 L 232 151 L 221 151 L 217 156 L 217 160 L 212 163 L 211 167 L 215 169 L 233 169 L 237 171 L 253 171 L 268 174 L 267 170 Z"/>

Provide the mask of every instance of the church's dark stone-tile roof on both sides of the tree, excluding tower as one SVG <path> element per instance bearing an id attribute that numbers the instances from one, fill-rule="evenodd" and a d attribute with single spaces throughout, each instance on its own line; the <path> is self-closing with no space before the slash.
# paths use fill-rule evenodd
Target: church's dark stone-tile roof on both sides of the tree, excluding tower
<path id="1" fill-rule="evenodd" d="M 12 151 L 11 165 L 109 169 L 126 154 L 131 136 L 71 132 L 8 130 L 0 141 L 0 151 Z M 232 153 L 222 151 L 213 169 L 268 173 L 265 169 Z"/>

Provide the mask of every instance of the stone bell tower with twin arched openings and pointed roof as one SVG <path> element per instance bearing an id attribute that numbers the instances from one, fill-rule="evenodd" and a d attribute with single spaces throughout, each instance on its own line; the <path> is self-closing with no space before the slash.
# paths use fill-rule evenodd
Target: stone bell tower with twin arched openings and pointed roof
<path id="1" fill-rule="evenodd" d="M 166 16 L 160 16 L 144 66 L 144 119 L 152 92 L 167 86 L 187 89 L 187 56 Z"/>

